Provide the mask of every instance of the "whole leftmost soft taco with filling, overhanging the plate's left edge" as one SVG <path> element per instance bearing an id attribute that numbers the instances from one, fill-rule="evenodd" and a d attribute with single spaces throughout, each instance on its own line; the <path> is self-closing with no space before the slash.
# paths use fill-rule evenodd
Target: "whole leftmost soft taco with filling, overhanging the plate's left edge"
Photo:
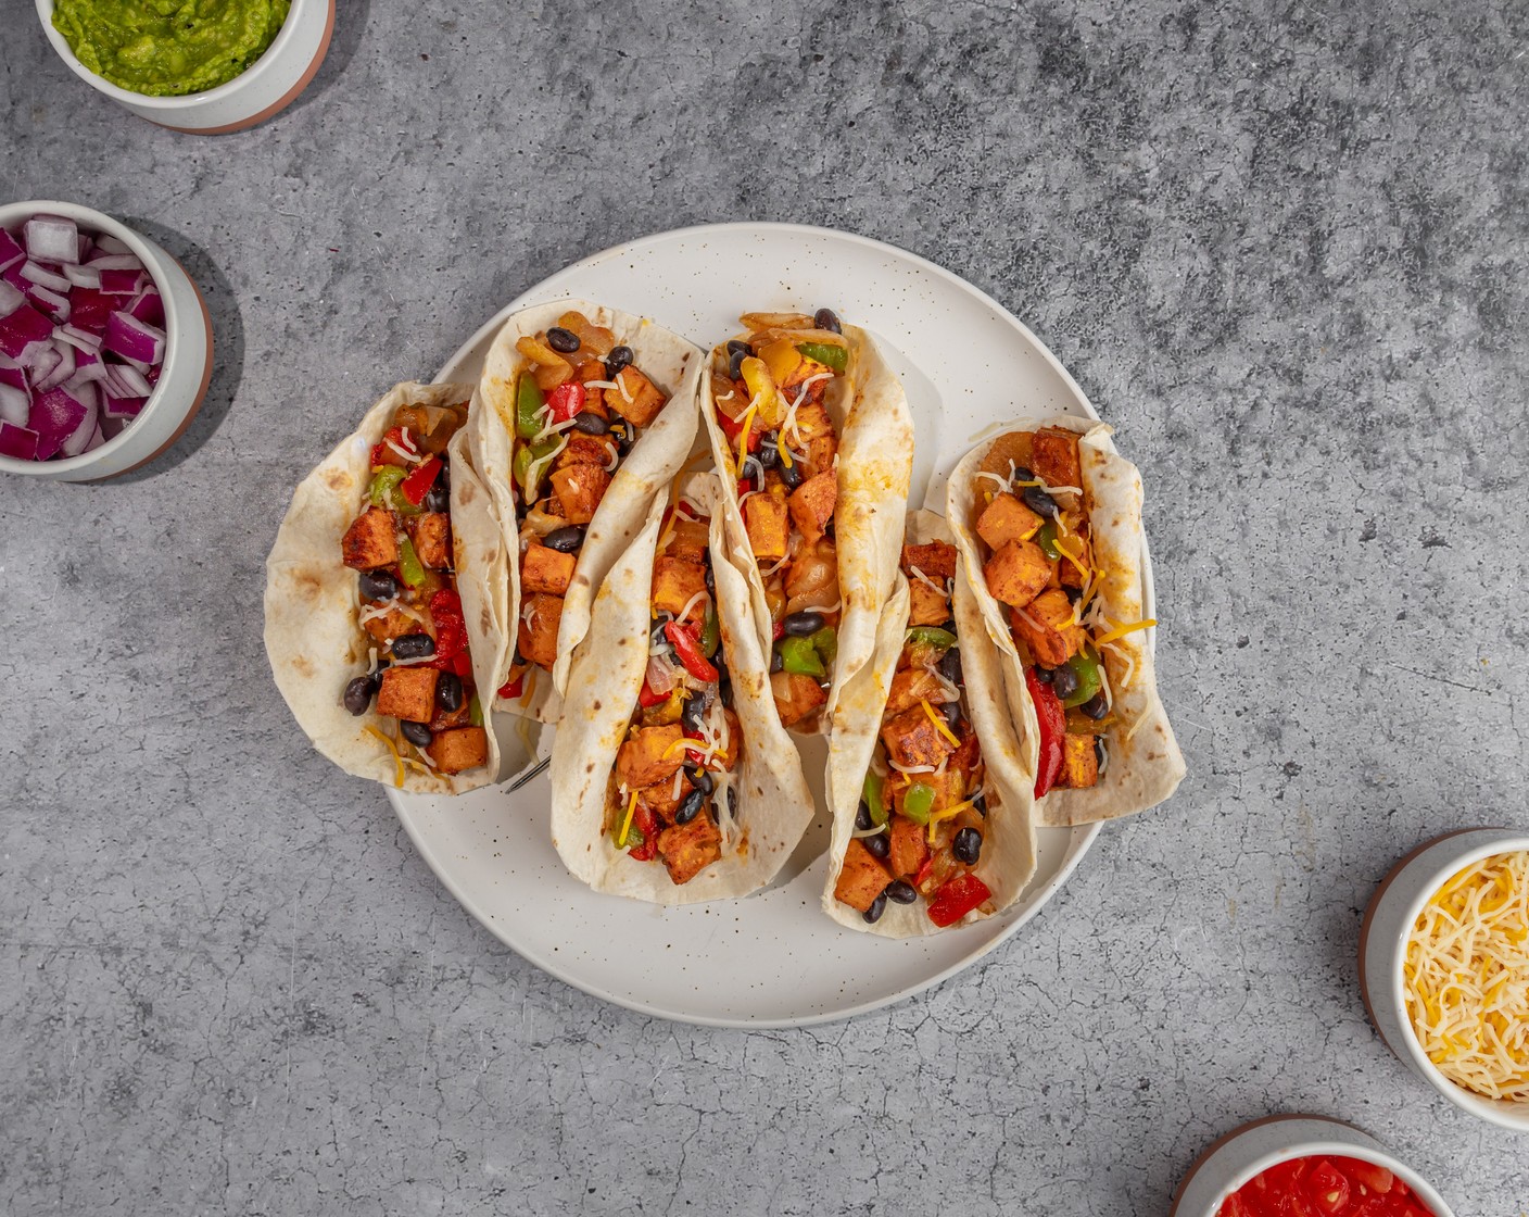
<path id="1" fill-rule="evenodd" d="M 347 773 L 459 794 L 498 772 L 506 551 L 466 458 L 471 384 L 399 384 L 297 488 L 266 560 L 266 654 Z"/>

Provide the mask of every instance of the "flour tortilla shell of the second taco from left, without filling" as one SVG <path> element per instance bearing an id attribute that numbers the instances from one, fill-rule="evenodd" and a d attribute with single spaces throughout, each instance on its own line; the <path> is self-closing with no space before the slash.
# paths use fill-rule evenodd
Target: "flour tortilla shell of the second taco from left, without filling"
<path id="1" fill-rule="evenodd" d="M 610 487 L 587 525 L 573 580 L 563 597 L 558 657 L 550 680 L 546 672 L 532 669 L 526 680 L 535 677 L 537 686 L 528 698 L 495 701 L 498 710 L 523 713 L 543 723 L 555 723 L 561 713 L 561 693 L 567 689 L 573 648 L 589 631 L 595 589 L 642 527 L 653 496 L 680 473 L 691 456 L 696 445 L 697 389 L 705 364 L 700 347 L 677 334 L 645 317 L 633 317 L 630 312 L 592 305 L 587 300 L 560 300 L 553 305 L 521 309 L 494 335 L 479 381 L 486 409 L 477 415 L 471 445 L 474 464 L 494 494 L 494 507 L 503 522 L 505 548 L 509 553 L 511 655 L 520 618 L 520 516 L 517 514 L 520 496 L 511 470 L 514 452 L 523 442 L 515 433 L 515 378 L 529 366 L 529 360 L 515 349 L 515 341 L 550 329 L 564 312 L 583 312 L 592 325 L 612 331 L 616 344 L 631 347 L 636 354 L 633 363 L 670 400 L 653 423 L 644 427 L 631 452 L 612 475 Z M 503 677 L 494 687 L 500 684 Z"/>

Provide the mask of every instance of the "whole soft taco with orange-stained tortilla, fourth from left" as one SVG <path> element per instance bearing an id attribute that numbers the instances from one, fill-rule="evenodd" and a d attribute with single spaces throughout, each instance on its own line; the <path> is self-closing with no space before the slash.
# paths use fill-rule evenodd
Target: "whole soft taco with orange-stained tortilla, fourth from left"
<path id="1" fill-rule="evenodd" d="M 913 416 L 870 335 L 749 312 L 711 352 L 702 416 L 743 559 L 780 721 L 820 730 L 870 658 L 913 473 Z"/>

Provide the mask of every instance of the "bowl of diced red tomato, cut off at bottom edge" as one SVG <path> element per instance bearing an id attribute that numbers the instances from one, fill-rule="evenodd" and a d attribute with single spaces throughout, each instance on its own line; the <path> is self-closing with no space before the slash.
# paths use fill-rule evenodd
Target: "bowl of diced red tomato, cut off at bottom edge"
<path id="1" fill-rule="evenodd" d="M 1370 1134 L 1324 1116 L 1271 1116 L 1212 1144 L 1170 1217 L 1454 1217 Z"/>

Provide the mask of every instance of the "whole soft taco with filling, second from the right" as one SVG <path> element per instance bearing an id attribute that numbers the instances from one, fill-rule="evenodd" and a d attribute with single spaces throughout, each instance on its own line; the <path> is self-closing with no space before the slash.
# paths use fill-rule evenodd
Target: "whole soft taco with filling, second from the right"
<path id="1" fill-rule="evenodd" d="M 833 715 L 823 906 L 936 934 L 1008 908 L 1035 873 L 1035 807 L 998 652 L 945 520 L 908 516 L 872 661 Z"/>

